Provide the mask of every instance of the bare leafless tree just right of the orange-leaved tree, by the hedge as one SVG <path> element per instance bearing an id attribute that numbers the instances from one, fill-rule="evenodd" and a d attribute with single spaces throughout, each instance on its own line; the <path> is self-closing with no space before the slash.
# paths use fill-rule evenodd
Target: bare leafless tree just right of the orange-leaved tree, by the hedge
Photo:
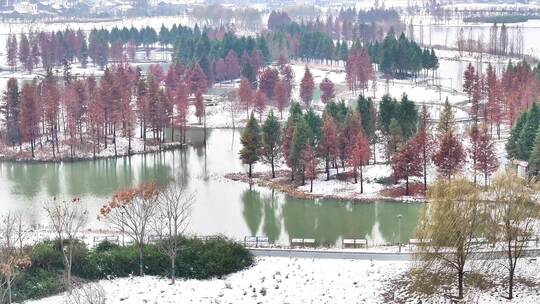
<path id="1" fill-rule="evenodd" d="M 159 191 L 153 228 L 159 238 L 158 248 L 171 261 L 172 284 L 176 280 L 176 256 L 181 250 L 181 237 L 189 225 L 194 198 L 194 193 L 188 192 L 182 184 L 176 181 L 172 181 Z"/>

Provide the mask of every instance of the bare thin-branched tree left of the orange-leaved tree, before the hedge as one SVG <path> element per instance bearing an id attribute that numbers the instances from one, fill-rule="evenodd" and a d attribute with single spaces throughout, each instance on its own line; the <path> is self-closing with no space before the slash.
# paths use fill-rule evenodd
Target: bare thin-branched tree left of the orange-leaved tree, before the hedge
<path id="1" fill-rule="evenodd" d="M 70 293 L 73 249 L 79 233 L 88 221 L 88 212 L 82 206 L 80 198 L 73 198 L 70 201 L 53 198 L 45 203 L 44 209 L 60 245 L 64 264 L 64 284 Z"/>

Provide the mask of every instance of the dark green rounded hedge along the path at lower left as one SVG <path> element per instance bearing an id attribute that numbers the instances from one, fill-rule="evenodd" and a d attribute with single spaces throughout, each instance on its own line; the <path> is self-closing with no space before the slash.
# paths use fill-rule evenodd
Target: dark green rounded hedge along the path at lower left
<path id="1" fill-rule="evenodd" d="M 182 238 L 176 257 L 176 276 L 208 279 L 227 275 L 247 267 L 253 255 L 227 238 L 201 241 Z M 14 300 L 42 298 L 62 291 L 62 255 L 59 242 L 44 241 L 28 248 L 32 267 L 19 274 L 14 282 Z M 144 248 L 144 269 L 147 275 L 168 276 L 170 260 L 156 245 Z M 135 246 L 118 246 L 103 242 L 89 250 L 77 242 L 72 273 L 86 280 L 126 277 L 139 273 L 139 254 Z"/>

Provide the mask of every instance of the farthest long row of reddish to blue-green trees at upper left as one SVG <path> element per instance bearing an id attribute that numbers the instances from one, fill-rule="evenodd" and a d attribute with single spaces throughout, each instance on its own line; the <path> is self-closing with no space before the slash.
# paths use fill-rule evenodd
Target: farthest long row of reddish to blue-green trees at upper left
<path id="1" fill-rule="evenodd" d="M 78 61 L 86 67 L 89 58 L 104 68 L 109 61 L 120 62 L 126 57 L 135 60 L 137 47 L 143 47 L 149 57 L 154 45 L 162 49 L 174 46 L 173 59 L 183 64 L 198 61 L 203 67 L 211 66 L 218 59 L 225 59 L 231 50 L 237 56 L 260 52 L 260 62 L 271 60 L 266 40 L 262 36 L 236 37 L 225 28 L 212 30 L 195 25 L 194 28 L 174 24 L 171 28 L 161 26 L 159 33 L 149 26 L 92 29 L 88 35 L 82 30 L 65 29 L 57 32 L 31 32 L 28 35 L 9 35 L 7 38 L 8 65 L 15 69 L 20 63 L 23 69 L 32 70 L 41 63 L 44 68 L 61 66 L 64 60 Z M 239 58 L 237 58 L 239 59 Z M 202 64 L 201 61 L 206 62 Z M 208 73 L 208 69 L 205 69 Z M 209 76 L 209 75 L 207 75 Z"/>

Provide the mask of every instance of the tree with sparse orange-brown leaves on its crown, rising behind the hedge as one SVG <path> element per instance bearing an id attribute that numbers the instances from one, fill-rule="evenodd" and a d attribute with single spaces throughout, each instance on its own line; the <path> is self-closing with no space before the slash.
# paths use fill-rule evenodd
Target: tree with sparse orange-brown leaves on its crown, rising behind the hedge
<path id="1" fill-rule="evenodd" d="M 146 183 L 116 192 L 110 202 L 101 207 L 98 218 L 107 220 L 119 231 L 125 231 L 139 249 L 139 274 L 144 275 L 144 245 L 151 220 L 155 215 L 158 187 Z"/>

